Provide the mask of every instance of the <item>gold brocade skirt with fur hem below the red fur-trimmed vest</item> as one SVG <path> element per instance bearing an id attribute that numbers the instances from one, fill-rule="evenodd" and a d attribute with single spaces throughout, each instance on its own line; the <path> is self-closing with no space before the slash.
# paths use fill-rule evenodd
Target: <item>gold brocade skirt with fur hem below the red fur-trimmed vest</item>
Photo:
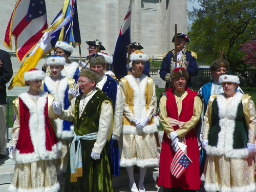
<path id="1" fill-rule="evenodd" d="M 15 191 L 17 188 L 24 191 L 59 191 L 55 166 L 54 160 L 15 164 L 12 183 L 8 190 Z"/>

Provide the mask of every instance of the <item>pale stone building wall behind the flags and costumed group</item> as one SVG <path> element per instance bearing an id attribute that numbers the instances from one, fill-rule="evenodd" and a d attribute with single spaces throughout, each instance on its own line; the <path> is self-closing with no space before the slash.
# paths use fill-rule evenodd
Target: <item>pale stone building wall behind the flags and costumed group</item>
<path id="1" fill-rule="evenodd" d="M 29 1 L 29 0 L 26 0 Z M 128 10 L 130 0 L 76 0 L 81 33 L 82 57 L 88 55 L 86 40 L 98 39 L 106 48 L 106 53 L 113 54 L 116 40 L 122 25 L 124 16 Z M 56 14 L 63 6 L 63 0 L 46 0 L 48 25 L 51 24 Z M 5 37 L 16 0 L 8 2 L 0 0 L 2 5 L 0 39 Z M 171 42 L 174 35 L 175 24 L 178 24 L 178 32 L 187 31 L 187 0 L 134 0 L 132 6 L 131 41 L 140 42 L 143 51 L 154 58 L 174 48 Z M 14 45 L 14 38 L 12 38 Z M 14 47 L 14 46 L 13 46 Z M 9 51 L 0 44 L 0 49 Z M 15 49 L 15 48 L 14 48 Z M 15 50 L 12 50 L 14 53 Z M 78 48 L 72 54 L 79 57 Z M 12 54 L 14 74 L 21 63 Z M 45 59 L 38 62 L 40 69 Z M 17 90 L 17 91 L 15 91 Z M 25 89 L 26 90 L 26 89 Z M 24 88 L 14 88 L 8 91 L 8 95 L 18 95 Z"/>

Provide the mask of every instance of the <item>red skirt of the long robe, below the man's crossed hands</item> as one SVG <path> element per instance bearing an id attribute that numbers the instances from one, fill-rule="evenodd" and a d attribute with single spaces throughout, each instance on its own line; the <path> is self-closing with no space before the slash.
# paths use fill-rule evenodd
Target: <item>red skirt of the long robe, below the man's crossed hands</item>
<path id="1" fill-rule="evenodd" d="M 170 173 L 170 164 L 173 161 L 175 152 L 172 147 L 172 141 L 163 134 L 163 143 L 161 148 L 160 163 L 159 163 L 159 178 L 158 185 L 163 185 L 166 188 L 180 187 L 182 189 L 200 189 L 202 187 L 200 181 L 200 161 L 199 148 L 195 130 L 192 129 L 185 136 L 187 145 L 187 156 L 193 163 L 190 163 L 179 179 L 176 179 Z"/>

